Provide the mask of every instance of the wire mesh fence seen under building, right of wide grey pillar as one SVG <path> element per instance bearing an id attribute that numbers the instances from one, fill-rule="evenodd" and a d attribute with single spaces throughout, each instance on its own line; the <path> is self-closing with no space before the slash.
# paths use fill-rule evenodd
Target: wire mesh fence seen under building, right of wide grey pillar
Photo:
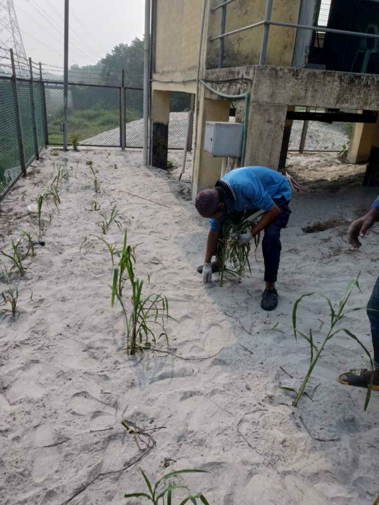
<path id="1" fill-rule="evenodd" d="M 291 129 L 290 151 L 298 151 L 304 121 L 295 120 Z M 341 151 L 347 145 L 352 131 L 352 123 L 323 123 L 309 121 L 304 144 L 305 151 Z"/>

